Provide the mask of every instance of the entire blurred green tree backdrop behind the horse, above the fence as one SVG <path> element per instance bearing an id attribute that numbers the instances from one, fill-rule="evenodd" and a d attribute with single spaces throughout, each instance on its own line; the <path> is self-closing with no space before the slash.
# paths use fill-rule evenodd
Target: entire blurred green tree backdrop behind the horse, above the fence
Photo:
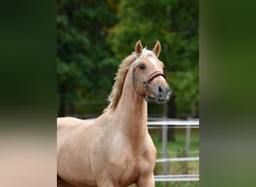
<path id="1" fill-rule="evenodd" d="M 198 1 L 57 2 L 58 116 L 100 114 L 138 40 L 148 49 L 161 42 L 174 113 L 190 114 L 194 101 L 198 114 Z M 163 110 L 149 105 L 150 114 Z"/>

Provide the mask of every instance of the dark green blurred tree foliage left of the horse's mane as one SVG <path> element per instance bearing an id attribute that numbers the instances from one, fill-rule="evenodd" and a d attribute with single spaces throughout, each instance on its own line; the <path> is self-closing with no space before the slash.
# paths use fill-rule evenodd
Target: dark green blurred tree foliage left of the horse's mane
<path id="1" fill-rule="evenodd" d="M 58 116 L 111 91 L 118 61 L 105 40 L 116 7 L 115 1 L 57 1 Z"/>

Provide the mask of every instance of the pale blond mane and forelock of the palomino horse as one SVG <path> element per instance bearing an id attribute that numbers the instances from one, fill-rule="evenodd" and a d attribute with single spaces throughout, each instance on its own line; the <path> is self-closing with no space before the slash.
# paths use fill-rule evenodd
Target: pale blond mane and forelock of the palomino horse
<path id="1" fill-rule="evenodd" d="M 132 63 L 134 67 L 136 64 L 138 64 L 138 62 L 143 61 L 147 55 L 154 55 L 156 57 L 155 53 L 144 48 L 141 52 L 141 55 L 137 56 L 135 52 L 132 52 L 132 55 L 127 56 L 127 58 L 124 58 L 124 60 L 119 65 L 118 73 L 116 73 L 114 79 L 115 84 L 113 85 L 112 92 L 110 93 L 108 98 L 109 105 L 107 106 L 107 108 L 104 109 L 103 113 L 109 111 L 112 108 L 116 108 L 123 91 L 124 80 L 127 76 L 129 67 L 131 66 Z"/>

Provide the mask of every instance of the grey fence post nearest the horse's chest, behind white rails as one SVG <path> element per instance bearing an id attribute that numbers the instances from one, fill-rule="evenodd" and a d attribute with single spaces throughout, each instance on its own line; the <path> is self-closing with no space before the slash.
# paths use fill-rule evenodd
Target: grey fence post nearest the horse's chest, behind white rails
<path id="1" fill-rule="evenodd" d="M 167 118 L 165 117 L 165 120 L 167 120 Z M 162 125 L 162 158 L 163 159 L 167 159 L 168 155 L 167 155 L 167 129 L 168 126 Z M 168 172 L 168 162 L 162 162 L 162 174 L 163 175 L 167 175 Z M 163 182 L 163 186 L 167 187 L 167 183 Z"/>

